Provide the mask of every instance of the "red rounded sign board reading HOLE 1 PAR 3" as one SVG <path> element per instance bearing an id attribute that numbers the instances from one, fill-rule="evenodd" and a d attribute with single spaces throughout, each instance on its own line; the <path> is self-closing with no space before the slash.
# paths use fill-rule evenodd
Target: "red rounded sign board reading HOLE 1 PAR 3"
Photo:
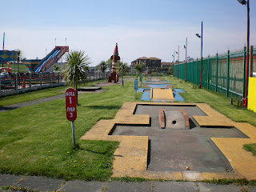
<path id="1" fill-rule="evenodd" d="M 70 122 L 74 122 L 77 118 L 77 98 L 73 88 L 68 88 L 65 91 L 66 97 L 66 118 Z"/>

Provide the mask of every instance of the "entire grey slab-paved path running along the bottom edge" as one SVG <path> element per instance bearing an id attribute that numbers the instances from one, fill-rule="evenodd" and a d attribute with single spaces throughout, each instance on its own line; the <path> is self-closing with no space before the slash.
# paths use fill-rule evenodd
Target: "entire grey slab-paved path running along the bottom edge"
<path id="1" fill-rule="evenodd" d="M 9 189 L 7 189 L 10 186 Z M 14 187 L 22 187 L 18 190 Z M 16 176 L 0 174 L 0 191 L 66 191 L 66 192 L 170 192 L 170 191 L 222 191 L 222 192 L 256 192 L 256 186 L 215 185 L 206 182 L 85 182 L 80 180 L 65 181 L 56 178 L 36 176 Z"/>

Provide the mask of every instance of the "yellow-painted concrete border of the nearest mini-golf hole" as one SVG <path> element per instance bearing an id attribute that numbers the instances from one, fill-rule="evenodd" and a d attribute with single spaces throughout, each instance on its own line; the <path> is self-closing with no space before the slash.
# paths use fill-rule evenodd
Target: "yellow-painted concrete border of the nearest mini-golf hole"
<path id="1" fill-rule="evenodd" d="M 183 165 L 182 169 L 179 168 L 178 170 L 177 167 L 174 169 L 171 168 L 170 170 L 150 170 L 150 166 L 146 166 L 147 163 L 150 165 L 153 165 L 154 161 L 152 159 L 147 159 L 147 154 L 151 154 L 154 156 L 154 151 L 150 151 L 150 139 L 148 139 L 148 136 L 142 136 L 142 135 L 149 135 L 145 134 L 145 130 L 143 131 L 145 133 L 141 134 L 136 134 L 135 132 L 138 132 L 139 126 L 143 126 L 144 128 L 146 126 L 150 126 L 149 122 L 154 122 L 150 117 L 151 117 L 151 112 L 154 113 L 154 110 L 145 110 L 147 113 L 144 114 L 137 114 L 138 106 L 184 106 L 191 107 L 191 106 L 196 106 L 198 107 L 198 110 L 200 113 L 198 114 L 193 114 L 191 117 L 190 111 L 186 110 L 187 114 L 189 114 L 189 118 L 191 120 L 195 120 L 195 123 L 192 127 L 190 132 L 194 132 L 194 136 L 197 133 L 197 130 L 206 130 L 204 132 L 204 136 L 210 137 L 210 142 L 205 143 L 204 145 L 207 146 L 205 149 L 201 147 L 200 151 L 203 153 L 206 152 L 209 149 L 213 149 L 213 146 L 215 146 L 215 151 L 218 152 L 218 154 L 225 155 L 226 158 L 222 158 L 224 162 L 222 162 L 222 165 L 225 165 L 226 162 L 228 162 L 229 166 L 231 164 L 231 169 L 230 167 L 226 167 L 226 169 L 223 170 L 224 167 L 222 167 L 222 170 L 218 169 L 216 170 L 205 170 L 201 169 L 199 166 L 199 170 L 197 166 L 189 166 L 189 170 L 184 170 L 186 169 L 186 166 Z M 174 107 L 175 108 L 175 107 Z M 192 108 L 191 108 L 192 109 Z M 158 117 L 157 117 L 158 118 Z M 198 121 L 198 119 L 200 121 Z M 212 121 L 209 122 L 209 119 Z M 236 133 L 232 136 L 226 135 L 226 128 L 223 128 L 223 122 L 225 123 L 225 126 L 230 126 L 230 127 L 236 127 Z M 206 127 L 211 127 L 211 128 L 200 128 L 196 127 L 198 124 L 199 126 L 206 126 Z M 133 133 L 125 133 L 127 130 L 118 130 L 118 126 L 121 125 L 126 125 L 126 128 L 129 126 L 134 126 L 136 125 L 136 128 L 134 128 L 132 131 Z M 151 125 L 152 126 L 152 125 Z M 221 126 L 222 128 L 218 129 L 216 127 Z M 115 127 L 115 128 L 114 128 Z M 214 127 L 214 128 L 212 128 Z M 136 130 L 137 129 L 137 130 Z M 248 129 L 248 130 L 247 130 Z M 148 129 L 147 129 L 148 130 Z M 213 130 L 215 133 L 211 134 L 208 130 Z M 139 130 L 141 131 L 141 130 Z M 181 131 L 181 130 L 178 130 Z M 118 133 L 119 132 L 119 133 Z M 130 130 L 129 130 L 130 132 Z M 243 133 L 244 132 L 244 133 Z M 241 134 L 243 133 L 243 134 Z M 154 133 L 156 134 L 156 133 Z M 220 134 L 220 135 L 219 135 Z M 238 134 L 238 135 L 235 135 Z M 133 136 L 131 136 L 133 135 Z M 135 136 L 136 135 L 136 136 Z M 186 136 L 186 134 L 178 134 L 179 136 Z M 247 136 L 248 137 L 247 137 Z M 152 135 L 153 138 L 154 136 L 159 135 Z M 171 135 L 173 137 L 173 135 Z M 192 135 L 187 135 L 189 136 L 186 138 L 187 141 L 191 141 Z M 193 137 L 194 137 L 193 136 Z M 199 134 L 198 134 L 199 136 Z M 192 137 L 192 138 L 193 138 Z M 242 138 L 241 138 L 242 137 Z M 243 138 L 244 137 L 244 138 Z M 156 137 L 155 137 L 156 138 Z M 194 137 L 195 138 L 195 137 Z M 198 142 L 202 142 L 202 137 L 197 137 Z M 217 139 L 216 139 L 217 138 Z M 170 180 L 180 180 L 180 179 L 186 179 L 189 181 L 199 181 L 199 180 L 204 180 L 204 179 L 213 179 L 213 178 L 247 178 L 247 179 L 255 179 L 256 178 L 256 166 L 254 164 L 256 163 L 255 157 L 251 158 L 250 152 L 247 152 L 242 149 L 242 144 L 249 143 L 249 142 L 255 142 L 256 138 L 256 127 L 255 126 L 250 126 L 248 123 L 241 123 L 241 122 L 233 122 L 229 118 L 226 118 L 223 114 L 218 113 L 218 111 L 213 110 L 209 105 L 206 103 L 180 103 L 180 102 L 125 102 L 120 110 L 118 110 L 118 113 L 114 117 L 114 119 L 111 120 L 101 120 L 96 123 L 95 126 L 93 126 L 89 131 L 86 132 L 85 135 L 82 136 L 80 139 L 89 139 L 89 140 L 106 140 L 106 141 L 118 141 L 120 142 L 120 145 L 118 146 L 118 149 L 115 150 L 114 152 L 114 163 L 113 163 L 113 174 L 112 177 L 123 177 L 123 176 L 130 176 L 130 177 L 140 177 L 140 178 L 161 178 L 161 179 L 170 179 Z M 176 139 L 176 138 L 175 138 Z M 173 139 L 174 140 L 174 139 Z M 192 139 L 193 140 L 193 139 Z M 148 142 L 147 142 L 148 141 Z M 151 139 L 152 141 L 152 139 Z M 176 140 L 174 140 L 176 141 Z M 222 143 L 226 142 L 226 145 L 221 145 Z M 139 143 L 139 144 L 138 144 Z M 151 142 L 155 143 L 155 142 Z M 174 143 L 174 146 L 179 146 L 177 143 Z M 210 146 L 210 144 L 214 144 L 213 146 Z M 235 145 L 234 145 L 235 144 Z M 238 144 L 238 145 L 237 145 Z M 202 145 L 202 146 L 204 146 Z M 233 147 L 233 146 L 235 147 Z M 129 147 L 127 147 L 129 146 Z M 174 147 L 173 146 L 173 147 Z M 230 146 L 232 146 L 230 148 Z M 237 147 L 239 146 L 239 147 Z M 187 146 L 185 149 L 188 150 L 188 152 L 193 155 L 193 153 L 189 150 L 191 146 Z M 194 145 L 195 149 L 197 149 L 196 145 Z M 154 147 L 152 147 L 154 148 Z M 163 146 L 163 148 L 166 148 L 166 145 Z M 127 150 L 128 149 L 128 150 Z M 230 152 L 232 152 L 232 155 L 226 155 L 226 151 L 229 149 Z M 178 152 L 183 151 L 184 148 L 181 150 L 176 149 Z M 221 153 L 220 153 L 220 151 Z M 244 153 L 247 153 L 245 156 L 241 155 Z M 230 154 L 230 153 L 228 153 Z M 241 156 L 244 159 L 242 161 L 236 162 L 236 156 Z M 185 153 L 181 157 L 185 158 L 187 160 L 187 154 Z M 217 156 L 216 156 L 217 157 Z M 218 155 L 218 158 L 220 156 Z M 202 159 L 204 158 L 204 161 L 207 162 L 207 158 L 202 155 Z M 199 158 L 200 159 L 200 158 Z M 210 158 L 208 158 L 210 161 L 213 161 L 212 155 Z M 156 159 L 159 160 L 159 159 Z M 159 161 L 158 161 L 159 162 Z M 160 161 L 161 162 L 161 161 Z M 190 162 L 197 162 L 197 161 L 191 161 Z M 198 162 L 197 162 L 198 163 Z M 214 161 L 215 163 L 215 161 Z M 166 163 L 164 163 L 166 164 Z M 170 164 L 170 162 L 169 162 Z M 186 163 L 187 164 L 187 163 Z M 199 163 L 200 164 L 200 163 Z M 216 164 L 216 163 L 215 163 Z M 219 163 L 218 163 L 219 164 Z M 218 166 L 218 164 L 216 164 Z M 136 165 L 136 167 L 134 166 Z M 158 165 L 158 163 L 156 164 Z M 167 164 L 166 164 L 167 165 Z M 248 165 L 250 165 L 250 168 L 248 169 Z M 201 166 L 201 165 L 200 165 Z M 209 163 L 206 164 L 206 166 L 209 166 Z M 194 167 L 194 168 L 192 168 Z M 246 169 L 245 169 L 246 167 Z M 232 170 L 233 168 L 233 170 Z M 248 171 L 249 170 L 249 171 Z M 254 171 L 255 170 L 255 171 Z M 231 171 L 231 172 L 230 172 Z"/>

